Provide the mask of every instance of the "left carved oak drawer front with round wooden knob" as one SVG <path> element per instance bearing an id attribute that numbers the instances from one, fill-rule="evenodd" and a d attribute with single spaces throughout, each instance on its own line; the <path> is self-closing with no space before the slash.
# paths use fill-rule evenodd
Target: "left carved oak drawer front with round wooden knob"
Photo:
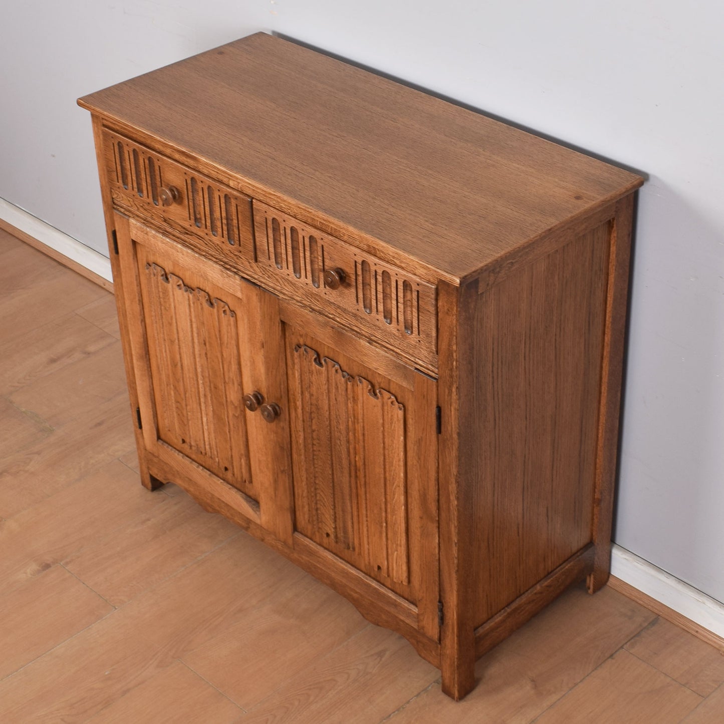
<path id="1" fill-rule="evenodd" d="M 185 243 L 192 239 L 190 245 L 222 264 L 243 268 L 241 250 L 253 235 L 251 198 L 109 130 L 104 161 L 114 206 L 180 232 Z"/>

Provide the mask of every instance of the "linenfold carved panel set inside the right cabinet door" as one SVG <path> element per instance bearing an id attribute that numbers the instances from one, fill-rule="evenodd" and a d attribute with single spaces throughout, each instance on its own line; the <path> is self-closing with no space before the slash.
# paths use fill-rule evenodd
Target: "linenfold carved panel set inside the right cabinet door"
<path id="1" fill-rule="evenodd" d="M 370 576 L 408 584 L 405 407 L 306 345 L 294 351 L 297 529 Z"/>

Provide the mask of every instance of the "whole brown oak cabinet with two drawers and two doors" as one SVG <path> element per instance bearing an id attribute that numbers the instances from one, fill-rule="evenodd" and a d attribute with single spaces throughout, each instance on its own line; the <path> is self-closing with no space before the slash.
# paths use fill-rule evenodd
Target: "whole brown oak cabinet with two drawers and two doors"
<path id="1" fill-rule="evenodd" d="M 605 584 L 639 177 L 261 33 L 79 102 L 146 487 L 455 698 Z"/>

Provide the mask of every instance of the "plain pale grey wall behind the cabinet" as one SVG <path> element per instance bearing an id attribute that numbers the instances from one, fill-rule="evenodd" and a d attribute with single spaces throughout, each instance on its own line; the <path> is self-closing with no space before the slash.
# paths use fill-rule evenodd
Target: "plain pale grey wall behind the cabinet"
<path id="1" fill-rule="evenodd" d="M 6 4 L 0 196 L 103 249 L 75 98 L 256 30 L 644 170 L 615 539 L 724 601 L 722 28 L 717 0 Z"/>

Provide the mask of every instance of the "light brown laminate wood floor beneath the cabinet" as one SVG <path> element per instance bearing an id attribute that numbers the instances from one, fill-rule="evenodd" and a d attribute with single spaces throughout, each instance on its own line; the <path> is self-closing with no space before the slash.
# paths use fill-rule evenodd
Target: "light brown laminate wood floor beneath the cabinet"
<path id="1" fill-rule="evenodd" d="M 458 704 L 395 633 L 140 486 L 114 299 L 0 230 L 0 723 L 724 723 L 724 656 L 571 589 Z"/>

